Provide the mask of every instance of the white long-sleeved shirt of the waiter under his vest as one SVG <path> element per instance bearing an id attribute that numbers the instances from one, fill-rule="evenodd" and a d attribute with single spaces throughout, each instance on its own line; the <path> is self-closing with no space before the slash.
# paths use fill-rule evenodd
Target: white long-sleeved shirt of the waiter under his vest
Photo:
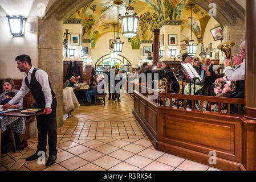
<path id="1" fill-rule="evenodd" d="M 27 87 L 27 85 L 25 83 L 25 78 L 27 77 L 27 80 L 29 81 L 29 84 L 30 84 L 31 75 L 32 75 L 33 71 L 34 71 L 34 67 L 31 67 L 28 75 L 27 75 L 27 73 L 24 73 L 25 77 L 23 78 L 21 89 L 15 95 L 15 97 L 11 101 L 9 101 L 10 105 L 13 105 L 14 103 L 21 100 L 21 98 L 25 97 L 26 94 L 29 92 L 29 88 Z M 45 71 L 43 71 L 42 69 L 38 69 L 35 72 L 35 78 L 39 82 L 39 84 L 42 86 L 42 91 L 44 94 L 44 98 L 46 100 L 46 107 L 51 108 L 52 95 L 51 95 L 51 88 L 50 88 L 50 84 L 48 81 L 47 73 Z"/>

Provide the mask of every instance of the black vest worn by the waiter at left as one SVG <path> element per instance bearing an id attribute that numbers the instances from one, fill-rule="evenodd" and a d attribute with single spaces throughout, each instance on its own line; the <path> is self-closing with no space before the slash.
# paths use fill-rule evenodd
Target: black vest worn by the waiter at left
<path id="1" fill-rule="evenodd" d="M 35 72 L 37 71 L 37 68 L 34 68 L 32 75 L 31 75 L 31 80 L 30 80 L 30 84 L 29 84 L 29 80 L 27 79 L 27 77 L 25 78 L 25 83 L 27 85 L 27 87 L 30 89 L 30 92 L 36 102 L 36 107 L 40 108 L 40 109 L 44 109 L 45 105 L 46 105 L 46 101 L 45 101 L 45 97 L 44 97 L 44 93 L 42 90 L 42 86 L 39 84 L 39 82 L 36 80 L 35 78 Z M 49 79 L 48 79 L 49 81 Z M 49 81 L 49 85 L 51 88 L 51 84 Z M 51 88 L 51 95 L 52 95 L 52 100 L 55 97 L 55 93 Z"/>

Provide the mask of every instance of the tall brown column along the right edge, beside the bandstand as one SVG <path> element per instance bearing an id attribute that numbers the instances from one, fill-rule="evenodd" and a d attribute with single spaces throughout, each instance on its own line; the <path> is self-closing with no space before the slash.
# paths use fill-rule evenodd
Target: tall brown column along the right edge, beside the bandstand
<path id="1" fill-rule="evenodd" d="M 256 0 L 246 0 L 245 116 L 242 117 L 242 163 L 256 170 Z"/>

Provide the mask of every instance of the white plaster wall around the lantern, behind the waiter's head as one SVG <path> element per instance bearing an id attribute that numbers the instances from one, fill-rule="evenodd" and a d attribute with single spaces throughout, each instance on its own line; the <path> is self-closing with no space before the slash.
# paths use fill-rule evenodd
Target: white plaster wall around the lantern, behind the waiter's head
<path id="1" fill-rule="evenodd" d="M 2 12 L 3 13 L 3 12 Z M 5 13 L 3 13 L 5 14 Z M 14 37 L 10 33 L 6 16 L 0 16 L 0 78 L 23 78 L 23 73 L 17 69 L 15 57 L 26 54 L 31 57 L 32 65 L 38 67 L 37 61 L 37 16 L 28 16 L 26 22 L 35 22 L 35 32 L 27 32 L 25 26 L 24 36 Z"/>

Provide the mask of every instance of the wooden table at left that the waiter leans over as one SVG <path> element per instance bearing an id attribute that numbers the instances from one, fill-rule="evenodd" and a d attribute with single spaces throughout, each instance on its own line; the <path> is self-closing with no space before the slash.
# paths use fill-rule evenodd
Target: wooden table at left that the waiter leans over
<path id="1" fill-rule="evenodd" d="M 22 110 L 26 110 L 26 109 L 22 109 Z M 4 115 L 4 116 L 13 116 L 13 117 L 33 117 L 36 115 L 42 115 L 44 114 L 43 111 L 39 111 L 36 113 L 31 113 L 31 114 L 23 114 L 21 113 L 22 110 L 15 110 L 15 111 L 10 111 L 7 113 L 1 113 L 0 115 Z M 13 143 L 13 152 L 16 151 L 16 143 L 15 143 L 15 138 L 14 138 L 14 133 L 13 133 L 13 125 L 11 125 L 12 123 L 10 123 L 10 125 L 7 125 L 7 129 L 9 129 L 9 135 L 10 135 L 10 139 L 11 139 L 11 143 Z M 1 129 L 0 129 L 0 139 L 1 139 Z M 1 141 L 0 141 L 1 144 Z"/>

